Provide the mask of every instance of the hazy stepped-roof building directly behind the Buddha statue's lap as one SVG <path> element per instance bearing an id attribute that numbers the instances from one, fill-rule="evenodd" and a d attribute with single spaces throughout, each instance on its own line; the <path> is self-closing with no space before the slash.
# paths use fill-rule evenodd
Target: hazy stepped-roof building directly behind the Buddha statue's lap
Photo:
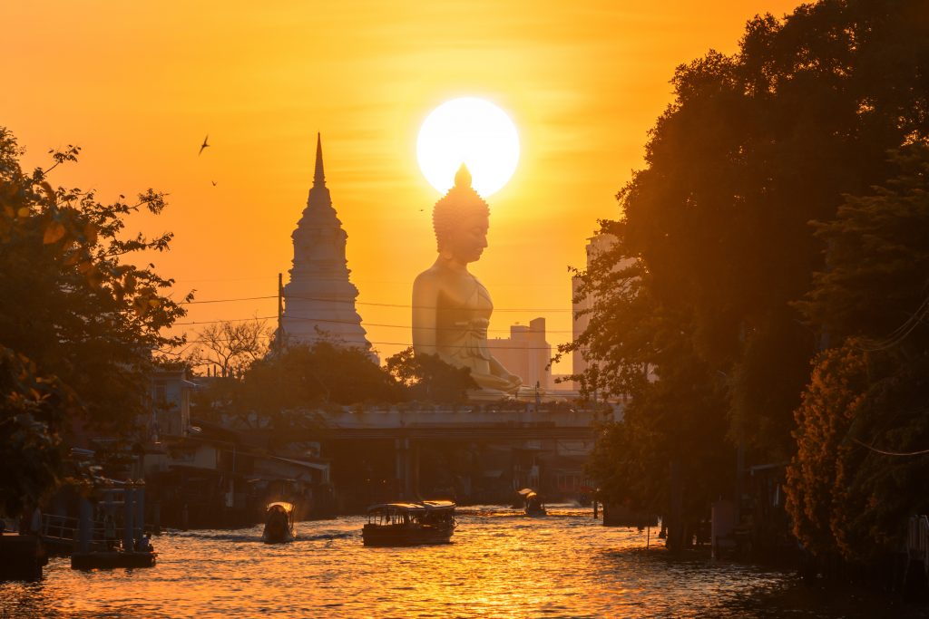
<path id="1" fill-rule="evenodd" d="M 545 319 L 535 318 L 529 325 L 513 325 L 510 337 L 493 338 L 487 342 L 491 355 L 526 387 L 552 388 L 552 345 L 545 342 Z"/>

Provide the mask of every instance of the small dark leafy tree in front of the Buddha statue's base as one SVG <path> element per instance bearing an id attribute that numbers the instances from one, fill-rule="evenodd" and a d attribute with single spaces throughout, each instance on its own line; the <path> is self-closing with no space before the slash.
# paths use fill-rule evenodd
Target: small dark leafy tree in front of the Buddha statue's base
<path id="1" fill-rule="evenodd" d="M 467 390 L 478 389 L 469 368 L 455 368 L 438 355 L 415 355 L 412 346 L 388 357 L 386 371 L 410 400 L 460 404 L 467 399 Z"/>

